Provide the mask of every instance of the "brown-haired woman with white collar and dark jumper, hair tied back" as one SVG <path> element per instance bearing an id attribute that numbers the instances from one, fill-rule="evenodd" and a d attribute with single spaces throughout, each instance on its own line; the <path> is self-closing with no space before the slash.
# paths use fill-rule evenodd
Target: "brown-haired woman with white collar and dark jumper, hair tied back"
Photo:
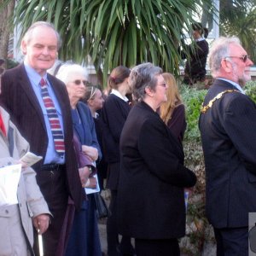
<path id="1" fill-rule="evenodd" d="M 117 226 L 117 194 L 120 172 L 119 139 L 130 111 L 128 78 L 131 71 L 127 67 L 115 67 L 108 77 L 109 95 L 102 108 L 104 156 L 108 162 L 107 188 L 111 190 L 110 212 L 107 221 L 108 256 L 133 255 L 130 237 L 122 237 L 119 243 Z"/>

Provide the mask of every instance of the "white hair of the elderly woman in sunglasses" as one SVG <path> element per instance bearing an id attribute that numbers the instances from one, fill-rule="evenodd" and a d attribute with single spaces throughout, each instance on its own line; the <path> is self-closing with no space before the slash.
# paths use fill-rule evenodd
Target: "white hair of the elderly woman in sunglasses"
<path id="1" fill-rule="evenodd" d="M 67 85 L 67 83 L 70 82 L 71 77 L 74 74 L 78 74 L 78 73 L 84 76 L 85 80 L 88 81 L 89 73 L 87 69 L 78 64 L 71 64 L 71 63 L 63 64 L 59 68 L 58 73 L 56 73 L 55 77 L 57 79 L 60 79 L 64 84 Z"/>

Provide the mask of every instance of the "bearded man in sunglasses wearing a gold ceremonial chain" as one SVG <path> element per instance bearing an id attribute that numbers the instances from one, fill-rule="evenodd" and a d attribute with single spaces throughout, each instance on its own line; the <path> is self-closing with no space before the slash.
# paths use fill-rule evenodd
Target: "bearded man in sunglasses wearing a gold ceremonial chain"
<path id="1" fill-rule="evenodd" d="M 214 83 L 199 119 L 206 166 L 206 213 L 217 255 L 248 255 L 248 212 L 256 212 L 256 106 L 242 87 L 253 61 L 236 37 L 209 53 Z"/>

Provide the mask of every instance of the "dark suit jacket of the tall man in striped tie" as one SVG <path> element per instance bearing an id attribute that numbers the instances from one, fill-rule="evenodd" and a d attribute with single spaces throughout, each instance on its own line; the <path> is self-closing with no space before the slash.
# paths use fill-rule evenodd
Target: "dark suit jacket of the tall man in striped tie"
<path id="1" fill-rule="evenodd" d="M 84 189 L 81 187 L 79 172 L 77 170 L 78 165 L 73 150 L 73 125 L 69 98 L 65 84 L 50 74 L 48 74 L 48 79 L 55 91 L 55 96 L 60 104 L 63 117 L 67 189 L 76 207 L 79 208 Z M 22 136 L 30 143 L 31 151 L 34 154 L 45 157 L 48 136 L 44 124 L 44 116 L 23 64 L 4 73 L 0 101 L 19 127 Z M 32 167 L 38 172 L 42 165 L 43 161 L 39 161 Z"/>

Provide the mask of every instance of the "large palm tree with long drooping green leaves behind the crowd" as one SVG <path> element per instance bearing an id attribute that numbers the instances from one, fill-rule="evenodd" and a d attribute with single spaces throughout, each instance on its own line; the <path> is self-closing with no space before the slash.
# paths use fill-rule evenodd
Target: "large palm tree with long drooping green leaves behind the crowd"
<path id="1" fill-rule="evenodd" d="M 177 73 L 177 45 L 201 4 L 194 0 L 20 0 L 14 17 L 22 27 L 21 35 L 36 20 L 52 22 L 63 40 L 60 58 L 90 61 L 98 79 L 106 81 L 113 67 L 143 61 Z"/>

